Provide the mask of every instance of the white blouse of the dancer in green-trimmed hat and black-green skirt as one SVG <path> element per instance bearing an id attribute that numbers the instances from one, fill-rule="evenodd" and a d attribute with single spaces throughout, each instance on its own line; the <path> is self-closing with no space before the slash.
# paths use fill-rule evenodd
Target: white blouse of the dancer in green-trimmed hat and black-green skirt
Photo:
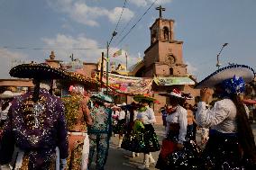
<path id="1" fill-rule="evenodd" d="M 138 112 L 137 119 L 142 119 L 144 124 L 153 124 L 156 122 L 155 113 L 150 108 L 146 106 L 147 110 L 145 112 Z"/>

